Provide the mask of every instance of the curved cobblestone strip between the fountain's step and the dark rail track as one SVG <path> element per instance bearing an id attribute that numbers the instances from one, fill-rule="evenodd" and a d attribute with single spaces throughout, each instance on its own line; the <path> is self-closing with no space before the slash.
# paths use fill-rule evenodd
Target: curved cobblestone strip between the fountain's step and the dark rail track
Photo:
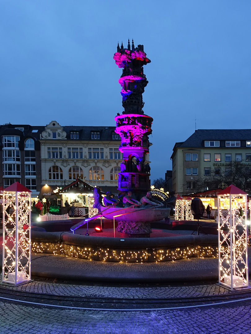
<path id="1" fill-rule="evenodd" d="M 250 282 L 251 285 L 251 282 Z M 228 289 L 217 284 L 171 284 L 171 285 L 101 285 L 88 283 L 73 283 L 67 281 L 35 280 L 18 287 L 0 285 L 13 291 L 27 293 L 49 294 L 55 296 L 102 297 L 123 299 L 162 299 L 191 298 L 207 296 L 225 296 L 232 294 Z M 250 291 L 250 289 L 248 289 Z M 235 291 L 233 292 L 235 293 Z"/>

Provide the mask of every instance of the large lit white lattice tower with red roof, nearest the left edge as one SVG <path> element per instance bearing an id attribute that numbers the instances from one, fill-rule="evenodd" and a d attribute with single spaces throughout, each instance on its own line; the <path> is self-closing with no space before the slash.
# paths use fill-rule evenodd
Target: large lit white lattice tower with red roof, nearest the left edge
<path id="1" fill-rule="evenodd" d="M 30 193 L 19 182 L 3 191 L 2 282 L 15 286 L 31 281 Z"/>

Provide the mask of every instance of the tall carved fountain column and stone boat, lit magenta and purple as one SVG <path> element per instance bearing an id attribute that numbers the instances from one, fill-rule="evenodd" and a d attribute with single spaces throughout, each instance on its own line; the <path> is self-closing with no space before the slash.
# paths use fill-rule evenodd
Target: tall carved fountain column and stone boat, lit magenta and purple
<path id="1" fill-rule="evenodd" d="M 144 52 L 144 45 L 132 47 L 128 40 L 127 48 L 123 43 L 119 47 L 113 59 L 119 68 L 122 68 L 120 83 L 122 115 L 115 117 L 115 132 L 121 137 L 120 152 L 123 154 L 123 162 L 120 164 L 121 172 L 118 173 L 119 196 L 133 193 L 133 198 L 140 199 L 150 191 L 150 166 L 145 163 L 146 154 L 149 153 L 149 135 L 152 133 L 153 118 L 145 115 L 142 94 L 148 84 L 144 74 L 143 65 L 151 62 Z M 151 205 L 150 205 L 151 206 Z M 152 232 L 151 221 L 161 220 L 169 216 L 170 209 L 163 207 L 146 208 L 114 208 L 104 210 L 104 216 L 118 220 L 118 232 L 121 237 L 149 237 Z"/>

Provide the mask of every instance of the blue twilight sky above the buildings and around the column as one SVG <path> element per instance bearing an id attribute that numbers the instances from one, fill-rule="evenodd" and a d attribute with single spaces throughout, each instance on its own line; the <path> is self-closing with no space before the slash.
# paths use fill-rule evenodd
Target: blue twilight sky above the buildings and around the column
<path id="1" fill-rule="evenodd" d="M 151 179 L 197 129 L 250 128 L 250 0 L 0 0 L 1 124 L 113 126 L 117 42 L 144 44 Z"/>

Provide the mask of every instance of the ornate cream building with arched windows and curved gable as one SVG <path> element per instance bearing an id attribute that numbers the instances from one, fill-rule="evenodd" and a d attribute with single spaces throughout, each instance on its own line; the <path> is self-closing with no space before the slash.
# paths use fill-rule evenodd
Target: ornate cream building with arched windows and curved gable
<path id="1" fill-rule="evenodd" d="M 117 192 L 122 154 L 115 127 L 65 126 L 52 121 L 40 135 L 41 184 L 67 185 L 85 180 L 102 191 Z"/>

